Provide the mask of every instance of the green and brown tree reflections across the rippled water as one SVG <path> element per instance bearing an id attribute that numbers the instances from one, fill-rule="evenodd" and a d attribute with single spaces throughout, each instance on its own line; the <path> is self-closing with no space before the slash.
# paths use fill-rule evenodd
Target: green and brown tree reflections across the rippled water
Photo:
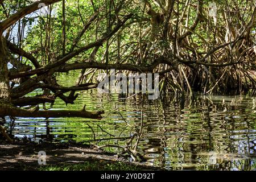
<path id="1" fill-rule="evenodd" d="M 65 135 L 68 138 L 64 139 L 72 139 L 69 135 L 73 134 L 77 135 L 74 140 L 86 140 L 98 146 L 126 146 L 141 127 L 142 95 L 137 94 L 127 101 L 118 95 L 101 97 L 100 100 L 99 107 L 104 107 L 111 114 L 104 119 L 104 125 L 101 123 L 102 129 L 97 127 L 98 123 L 89 123 L 95 140 L 88 122 L 76 119 L 65 123 L 67 130 L 75 127 L 69 133 L 65 133 L 63 126 L 56 133 L 47 122 L 45 137 L 51 139 L 51 134 L 54 134 L 53 137 Z M 137 152 L 145 155 L 148 162 L 170 169 L 253 169 L 255 160 L 251 158 L 255 156 L 249 152 L 255 154 L 250 131 L 254 129 L 254 118 L 251 116 L 253 110 L 247 109 L 249 102 L 249 99 L 241 97 L 197 96 L 193 102 L 186 100 L 184 109 L 181 109 L 179 100 L 172 96 L 162 100 L 144 100 L 143 135 Z M 130 148 L 137 139 L 135 136 Z M 240 148 L 238 144 L 241 144 Z M 118 151 L 122 150 L 118 148 Z M 238 150 L 241 150 L 241 155 Z M 112 147 L 109 151 L 117 150 Z M 210 152 L 216 156 L 216 164 L 209 164 Z"/>

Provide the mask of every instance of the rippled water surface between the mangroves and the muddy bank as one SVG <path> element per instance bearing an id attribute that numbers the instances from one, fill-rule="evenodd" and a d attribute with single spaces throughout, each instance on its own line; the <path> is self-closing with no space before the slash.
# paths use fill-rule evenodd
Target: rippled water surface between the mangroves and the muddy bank
<path id="1" fill-rule="evenodd" d="M 172 94 L 143 101 L 118 94 L 83 92 L 75 105 L 53 109 L 105 110 L 101 121 L 84 118 L 17 118 L 13 134 L 31 140 L 125 146 L 142 131 L 137 150 L 150 166 L 170 170 L 255 170 L 256 100 L 247 96 L 196 96 L 184 108 Z M 46 106 L 50 109 L 50 106 Z M 42 105 L 40 106 L 42 108 Z M 143 120 L 142 120 L 143 117 Z M 8 125 L 8 124 L 7 124 Z M 142 128 L 141 128 L 142 126 Z M 93 132 L 92 132 L 93 129 Z M 136 140 L 131 144 L 135 144 Z M 106 151 L 120 149 L 107 147 Z"/>

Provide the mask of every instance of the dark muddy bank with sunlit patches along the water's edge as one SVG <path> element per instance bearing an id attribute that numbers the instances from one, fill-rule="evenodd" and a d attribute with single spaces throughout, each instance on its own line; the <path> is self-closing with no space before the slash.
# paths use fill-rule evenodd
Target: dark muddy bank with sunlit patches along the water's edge
<path id="1" fill-rule="evenodd" d="M 105 164 L 122 162 L 145 170 L 158 169 L 141 163 L 130 163 L 125 158 L 118 158 L 115 154 L 96 150 L 93 146 L 85 144 L 16 142 L 0 143 L 0 170 L 37 170 L 40 167 L 39 151 L 46 152 L 47 166 L 104 161 Z"/>

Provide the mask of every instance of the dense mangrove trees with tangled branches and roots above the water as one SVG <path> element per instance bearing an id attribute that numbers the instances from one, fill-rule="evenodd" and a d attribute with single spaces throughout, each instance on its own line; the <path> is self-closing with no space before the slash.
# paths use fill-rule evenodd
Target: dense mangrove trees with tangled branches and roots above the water
<path id="1" fill-rule="evenodd" d="M 247 93 L 256 86 L 254 1 L 0 0 L 0 5 L 1 117 L 100 119 L 103 111 L 40 110 L 39 104 L 53 106 L 57 97 L 74 104 L 77 91 L 97 88 L 97 75 L 112 68 L 159 73 L 160 92 L 181 98 L 195 91 Z M 58 84 L 59 74 L 74 70 L 80 71 L 75 85 Z M 35 89 L 43 94 L 28 96 Z"/>

